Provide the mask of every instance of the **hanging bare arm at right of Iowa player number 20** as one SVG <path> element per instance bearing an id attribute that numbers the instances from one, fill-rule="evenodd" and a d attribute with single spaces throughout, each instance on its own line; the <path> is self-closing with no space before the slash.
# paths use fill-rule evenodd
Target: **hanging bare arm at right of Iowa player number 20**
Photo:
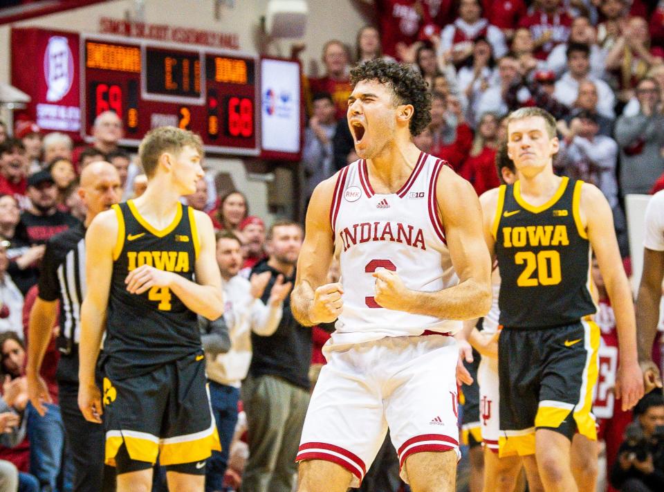
<path id="1" fill-rule="evenodd" d="M 616 313 L 616 329 L 620 345 L 620 367 L 616 376 L 616 397 L 622 399 L 623 410 L 632 408 L 643 397 L 643 374 L 636 356 L 636 320 L 634 302 L 614 232 L 614 218 L 604 194 L 589 183 L 581 189 L 581 222 L 597 257 L 607 287 L 611 306 Z M 618 266 L 618 268 L 616 268 Z"/>

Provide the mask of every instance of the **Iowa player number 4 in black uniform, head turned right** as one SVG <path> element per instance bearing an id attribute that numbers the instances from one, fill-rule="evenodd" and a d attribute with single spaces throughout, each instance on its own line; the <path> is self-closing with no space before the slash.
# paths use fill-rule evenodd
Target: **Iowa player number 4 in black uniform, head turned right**
<path id="1" fill-rule="evenodd" d="M 203 177 L 203 145 L 162 127 L 138 153 L 147 190 L 102 212 L 86 234 L 79 406 L 89 421 L 104 412 L 118 491 L 149 491 L 158 455 L 170 490 L 202 491 L 205 460 L 220 448 L 196 314 L 219 318 L 223 295 L 212 222 L 178 199 Z M 94 369 L 104 329 L 102 394 Z"/>

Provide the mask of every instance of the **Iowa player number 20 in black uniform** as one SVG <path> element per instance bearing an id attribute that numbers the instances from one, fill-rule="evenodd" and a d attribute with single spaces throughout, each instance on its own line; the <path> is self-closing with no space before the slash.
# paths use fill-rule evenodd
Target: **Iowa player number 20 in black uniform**
<path id="1" fill-rule="evenodd" d="M 631 408 L 643 396 L 634 305 L 611 208 L 593 185 L 553 174 L 555 120 L 540 108 L 508 117 L 508 156 L 519 181 L 481 197 L 490 252 L 501 273 L 499 336 L 501 456 L 520 455 L 529 482 L 578 491 L 570 464 L 575 432 L 596 439 L 591 414 L 600 333 L 590 288 L 595 251 L 616 311 L 616 392 Z"/>

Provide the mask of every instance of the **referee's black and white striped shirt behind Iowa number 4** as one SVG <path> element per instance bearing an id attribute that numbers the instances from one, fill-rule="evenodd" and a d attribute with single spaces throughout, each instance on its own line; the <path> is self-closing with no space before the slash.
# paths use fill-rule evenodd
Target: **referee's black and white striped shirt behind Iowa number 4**
<path id="1" fill-rule="evenodd" d="M 57 347 L 63 354 L 80 340 L 85 291 L 85 227 L 77 224 L 48 239 L 39 275 L 39 298 L 60 301 Z"/>

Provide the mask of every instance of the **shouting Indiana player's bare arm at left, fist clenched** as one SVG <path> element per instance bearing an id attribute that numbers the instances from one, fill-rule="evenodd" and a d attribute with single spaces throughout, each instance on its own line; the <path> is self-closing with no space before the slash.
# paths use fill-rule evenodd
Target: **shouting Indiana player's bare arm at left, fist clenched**
<path id="1" fill-rule="evenodd" d="M 304 326 L 333 322 L 343 307 L 341 284 L 326 283 L 334 254 L 330 206 L 337 177 L 335 174 L 317 185 L 306 211 L 306 233 L 291 294 L 293 316 Z"/>

